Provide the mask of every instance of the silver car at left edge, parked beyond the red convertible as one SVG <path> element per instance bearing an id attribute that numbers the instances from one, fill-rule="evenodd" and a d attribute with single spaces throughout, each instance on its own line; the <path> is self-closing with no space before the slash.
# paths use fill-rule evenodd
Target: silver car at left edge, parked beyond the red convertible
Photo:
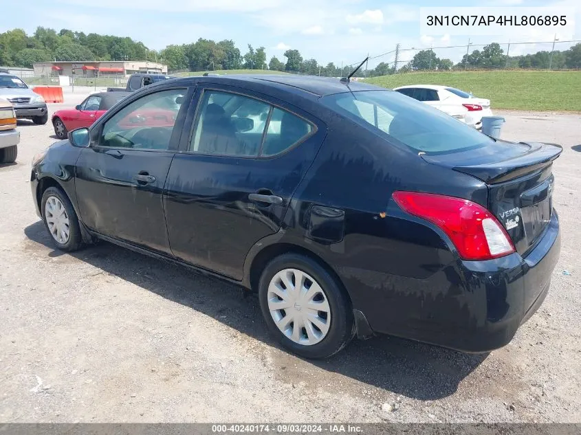
<path id="1" fill-rule="evenodd" d="M 34 93 L 19 77 L 0 72 L 0 98 L 12 103 L 17 118 L 28 118 L 34 124 L 47 123 L 44 98 Z"/>

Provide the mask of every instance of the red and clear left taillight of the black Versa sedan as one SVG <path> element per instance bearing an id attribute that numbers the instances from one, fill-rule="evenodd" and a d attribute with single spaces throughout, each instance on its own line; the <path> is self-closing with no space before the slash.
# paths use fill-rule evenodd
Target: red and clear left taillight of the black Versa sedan
<path id="1" fill-rule="evenodd" d="M 441 228 L 464 260 L 490 260 L 514 252 L 498 220 L 468 199 L 419 192 L 393 192 L 393 199 L 402 210 Z"/>

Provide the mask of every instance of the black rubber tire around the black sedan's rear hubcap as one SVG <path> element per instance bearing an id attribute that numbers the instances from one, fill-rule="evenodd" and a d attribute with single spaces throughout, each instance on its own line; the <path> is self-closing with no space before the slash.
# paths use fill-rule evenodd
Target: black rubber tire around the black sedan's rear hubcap
<path id="1" fill-rule="evenodd" d="M 331 324 L 327 335 L 318 343 L 305 345 L 289 339 L 276 326 L 268 308 L 268 287 L 274 276 L 283 269 L 298 269 L 307 273 L 321 287 L 331 309 Z M 353 310 L 347 292 L 341 283 L 315 260 L 300 254 L 283 254 L 274 258 L 263 270 L 259 281 L 261 310 L 270 333 L 285 348 L 301 357 L 320 359 L 331 357 L 347 346 L 355 335 Z"/>

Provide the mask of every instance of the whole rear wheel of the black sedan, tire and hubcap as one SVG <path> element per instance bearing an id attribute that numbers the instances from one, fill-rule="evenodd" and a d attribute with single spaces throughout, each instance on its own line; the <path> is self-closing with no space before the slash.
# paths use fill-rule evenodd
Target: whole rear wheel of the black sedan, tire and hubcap
<path id="1" fill-rule="evenodd" d="M 351 303 L 336 278 L 300 254 L 274 258 L 259 282 L 270 332 L 285 348 L 307 358 L 327 358 L 355 334 Z"/>

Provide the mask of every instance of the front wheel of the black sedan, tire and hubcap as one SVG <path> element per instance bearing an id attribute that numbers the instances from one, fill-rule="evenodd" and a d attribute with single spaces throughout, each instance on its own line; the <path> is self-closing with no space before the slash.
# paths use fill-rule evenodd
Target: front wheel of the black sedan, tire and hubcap
<path id="1" fill-rule="evenodd" d="M 76 212 L 65 192 L 47 188 L 41 201 L 43 221 L 58 249 L 72 252 L 83 245 Z"/>

